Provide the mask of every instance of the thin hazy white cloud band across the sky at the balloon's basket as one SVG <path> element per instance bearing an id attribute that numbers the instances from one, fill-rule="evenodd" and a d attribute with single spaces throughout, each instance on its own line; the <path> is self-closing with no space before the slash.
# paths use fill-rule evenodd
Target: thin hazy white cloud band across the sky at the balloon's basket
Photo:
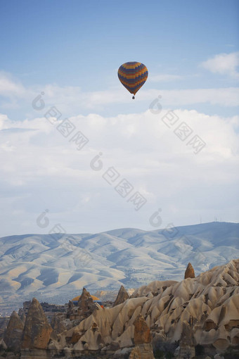
<path id="1" fill-rule="evenodd" d="M 44 93 L 42 99 L 45 103 L 44 111 L 50 106 L 56 106 L 63 115 L 73 115 L 83 111 L 99 112 L 108 109 L 109 105 L 124 104 L 130 106 L 131 95 L 122 89 L 121 84 L 117 88 L 106 91 L 82 92 L 80 87 L 60 87 L 56 84 L 46 84 L 44 87 L 24 87 L 19 82 L 14 82 L 6 75 L 0 75 L 0 94 L 4 96 L 1 107 L 19 108 L 29 115 L 32 101 Z M 187 106 L 198 103 L 209 103 L 212 106 L 232 107 L 239 106 L 239 88 L 210 88 L 210 89 L 141 89 L 137 99 L 144 103 L 145 108 L 158 96 L 162 97 L 162 106 Z M 6 100 L 5 100 L 6 99 Z M 8 101 L 8 102 L 6 102 Z M 31 117 L 32 117 L 31 113 Z M 39 112 L 40 113 L 40 112 Z"/>

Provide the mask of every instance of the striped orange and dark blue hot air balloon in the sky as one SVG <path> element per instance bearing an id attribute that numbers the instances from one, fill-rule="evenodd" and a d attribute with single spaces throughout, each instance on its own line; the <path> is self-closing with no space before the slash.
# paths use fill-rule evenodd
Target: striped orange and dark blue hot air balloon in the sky
<path id="1" fill-rule="evenodd" d="M 143 63 L 123 63 L 118 70 L 120 82 L 131 94 L 136 94 L 148 77 L 148 68 Z M 134 99 L 134 96 L 132 97 Z"/>

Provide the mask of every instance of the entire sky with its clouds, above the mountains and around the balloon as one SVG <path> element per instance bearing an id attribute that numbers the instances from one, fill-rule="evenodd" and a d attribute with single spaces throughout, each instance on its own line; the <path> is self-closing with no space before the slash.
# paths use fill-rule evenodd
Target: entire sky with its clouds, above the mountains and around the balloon
<path id="1" fill-rule="evenodd" d="M 2 209 L 8 208 L 4 210 L 6 229 L 3 234 L 11 234 L 11 231 L 15 234 L 39 232 L 39 228 L 34 227 L 34 218 L 44 207 L 49 208 L 50 212 L 53 208 L 56 222 L 66 222 L 67 232 L 96 232 L 126 226 L 150 228 L 148 217 L 157 207 L 164 208 L 164 213 L 167 213 L 164 215 L 164 226 L 168 222 L 175 222 L 176 225 L 197 222 L 201 213 L 205 220 L 213 220 L 215 215 L 228 221 L 238 220 L 235 203 L 228 204 L 238 194 L 238 172 L 235 170 L 235 163 L 238 163 L 238 10 L 238 1 L 231 0 L 51 0 L 40 3 L 34 0 L 0 0 L 0 137 L 1 160 L 4 163 L 1 189 L 4 196 Z M 117 78 L 117 69 L 127 61 L 140 61 L 149 71 L 148 80 L 135 101 L 131 100 L 131 95 Z M 32 108 L 32 101 L 41 92 L 44 92 L 46 106 L 44 111 L 39 112 Z M 180 119 L 187 121 L 205 141 L 207 139 L 209 150 L 205 149 L 205 154 L 200 156 L 205 156 L 204 164 L 213 161 L 213 173 L 207 172 L 207 165 L 202 166 L 200 159 L 196 160 L 199 155 L 190 157 L 191 154 L 186 151 L 188 148 L 177 142 L 173 132 L 164 134 L 162 123 L 158 124 L 161 130 L 155 127 L 154 133 L 151 132 L 152 128 L 147 129 L 141 124 L 142 118 L 146 118 L 146 122 L 154 126 L 148 108 L 157 96 L 161 96 L 163 113 L 171 109 L 179 111 Z M 56 130 L 52 132 L 51 124 L 48 124 L 51 130 L 46 127 L 44 113 L 51 106 L 56 106 L 64 118 L 71 118 L 76 127 L 86 132 L 90 141 L 89 151 L 85 149 L 84 156 L 82 152 L 74 152 L 66 162 L 60 157 L 52 157 L 56 148 L 60 153 L 67 150 L 65 139 L 59 139 Z M 136 115 L 138 122 L 134 118 Z M 126 127 L 123 129 L 121 126 L 124 122 Z M 108 126 L 111 132 L 108 132 Z M 219 126 L 226 126 L 224 136 Z M 25 133 L 25 143 L 22 143 L 19 134 L 15 137 L 19 129 Z M 168 144 L 162 145 L 162 134 L 166 136 Z M 142 141 L 144 135 L 146 141 Z M 150 147 L 154 136 L 156 143 L 160 139 L 157 145 L 160 147 Z M 138 147 L 138 143 L 141 147 Z M 49 152 L 45 155 L 48 156 L 51 170 L 46 171 L 46 176 L 42 178 L 37 174 L 30 153 L 40 158 L 40 153 L 49 146 Z M 136 148 L 139 152 L 143 151 L 145 162 L 138 163 Z M 122 176 L 128 173 L 131 181 L 137 182 L 136 188 L 149 194 L 148 202 L 151 201 L 152 210 L 148 209 L 142 215 L 129 210 L 130 215 L 127 213 L 126 216 L 125 203 L 122 205 L 122 202 L 112 199 L 111 189 L 105 189 L 102 180 L 91 183 L 95 173 L 88 173 L 89 161 L 103 150 L 109 165 L 115 163 L 116 166 L 118 163 Z M 183 204 L 185 196 L 175 196 L 175 186 L 182 191 L 185 191 L 184 184 L 187 187 L 188 177 L 181 177 L 181 172 L 179 184 L 169 185 L 168 196 L 163 198 L 162 191 L 157 187 L 159 176 L 164 178 L 162 186 L 170 184 L 172 179 L 172 169 L 169 170 L 160 157 L 165 152 L 168 163 L 174 163 L 172 168 L 175 166 L 176 173 L 182 170 L 178 168 L 178 163 L 184 160 L 181 168 L 186 170 L 190 161 L 193 161 L 200 174 L 195 172 L 195 181 L 190 184 L 190 196 L 207 203 L 205 208 L 202 206 L 193 213 L 192 203 Z M 25 169 L 18 168 L 14 153 L 22 153 Z M 132 162 L 126 165 L 128 158 Z M 152 159 L 151 176 L 155 171 L 153 183 L 151 176 L 147 177 L 144 173 L 149 170 L 149 158 Z M 57 163 L 56 168 L 53 163 Z M 229 164 L 231 168 L 227 167 Z M 45 165 L 42 163 L 43 172 Z M 73 174 L 77 165 L 79 173 Z M 39 187 L 42 183 L 48 183 L 51 175 L 51 180 L 56 183 L 53 168 L 55 172 L 64 172 L 67 168 L 69 177 L 67 180 L 57 177 L 58 191 L 51 198 L 49 191 L 40 190 Z M 130 169 L 134 168 L 135 172 L 129 175 Z M 222 168 L 228 175 L 224 180 L 219 180 Z M 202 173 L 206 178 L 212 178 L 215 184 L 209 203 L 209 188 L 200 187 Z M 229 173 L 231 177 L 227 178 Z M 13 181 L 10 185 L 10 174 L 19 178 L 19 183 Z M 77 187 L 76 180 L 82 174 L 89 183 L 84 189 Z M 140 176 L 141 181 L 138 180 Z M 84 206 L 80 201 L 75 201 L 73 191 L 67 197 L 69 208 L 63 213 L 64 206 L 59 205 L 57 197 L 59 191 L 64 192 L 65 185 L 79 191 Z M 47 186 L 44 184 L 43 187 Z M 196 195 L 194 188 L 199 191 Z M 106 194 L 100 199 L 102 191 L 106 191 Z M 84 196 L 83 192 L 88 195 Z M 96 197 L 97 201 L 92 199 Z M 217 203 L 219 197 L 221 202 Z M 90 199 L 93 203 L 87 207 Z M 195 200 L 195 206 L 198 205 Z M 117 219 L 112 215 L 115 206 Z M 22 212 L 18 213 L 17 210 L 15 213 L 15 207 Z M 88 210 L 98 218 L 94 225 L 89 220 Z M 83 216 L 84 225 L 77 225 L 77 216 Z M 15 218 L 14 230 L 11 229 L 9 218 Z"/>

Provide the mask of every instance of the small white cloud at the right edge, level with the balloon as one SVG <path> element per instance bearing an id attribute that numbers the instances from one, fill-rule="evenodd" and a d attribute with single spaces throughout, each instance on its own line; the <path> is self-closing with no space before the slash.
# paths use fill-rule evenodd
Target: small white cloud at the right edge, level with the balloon
<path id="1" fill-rule="evenodd" d="M 229 75 L 231 77 L 239 77 L 239 51 L 232 53 L 219 53 L 213 58 L 201 63 L 203 68 L 211 71 L 212 73 L 220 73 L 222 75 Z"/>

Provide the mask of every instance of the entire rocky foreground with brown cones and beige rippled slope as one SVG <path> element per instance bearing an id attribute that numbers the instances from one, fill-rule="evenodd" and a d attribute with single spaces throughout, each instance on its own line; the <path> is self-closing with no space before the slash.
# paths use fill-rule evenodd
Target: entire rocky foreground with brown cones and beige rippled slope
<path id="1" fill-rule="evenodd" d="M 153 359 L 163 352 L 194 358 L 199 351 L 198 358 L 238 358 L 239 259 L 198 277 L 188 263 L 184 277 L 151 282 L 130 297 L 122 286 L 115 303 L 103 308 L 83 289 L 77 304 L 70 301 L 51 323 L 33 298 L 26 317 L 12 313 L 1 348 L 25 359 Z"/>

